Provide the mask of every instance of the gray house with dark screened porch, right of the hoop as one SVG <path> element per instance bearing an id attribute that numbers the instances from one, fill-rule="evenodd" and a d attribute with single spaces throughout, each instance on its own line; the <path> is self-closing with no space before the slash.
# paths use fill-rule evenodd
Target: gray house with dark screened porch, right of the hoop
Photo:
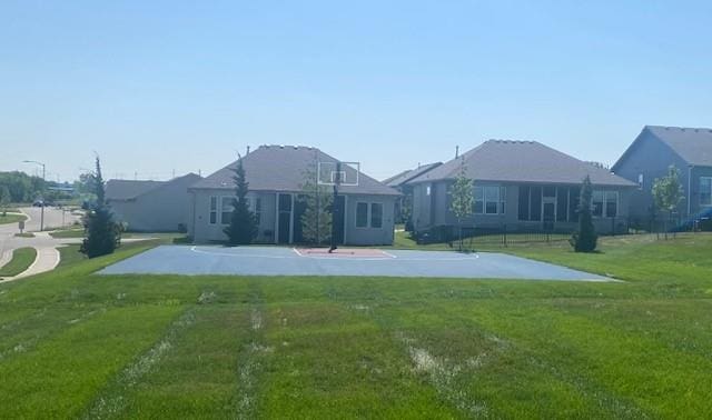
<path id="1" fill-rule="evenodd" d="M 475 199 L 465 228 L 571 232 L 578 222 L 581 184 L 589 176 L 596 230 L 626 229 L 635 183 L 536 141 L 490 140 L 409 181 L 415 231 L 457 226 L 449 189 L 463 166 L 474 181 Z"/>

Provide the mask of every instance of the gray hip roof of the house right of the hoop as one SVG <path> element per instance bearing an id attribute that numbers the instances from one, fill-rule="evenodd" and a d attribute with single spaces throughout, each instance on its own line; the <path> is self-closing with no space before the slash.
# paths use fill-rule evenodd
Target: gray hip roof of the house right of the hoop
<path id="1" fill-rule="evenodd" d="M 412 183 L 455 179 L 465 164 L 475 181 L 581 183 L 586 177 L 597 186 L 634 187 L 607 169 L 581 161 L 536 141 L 488 140 Z"/>

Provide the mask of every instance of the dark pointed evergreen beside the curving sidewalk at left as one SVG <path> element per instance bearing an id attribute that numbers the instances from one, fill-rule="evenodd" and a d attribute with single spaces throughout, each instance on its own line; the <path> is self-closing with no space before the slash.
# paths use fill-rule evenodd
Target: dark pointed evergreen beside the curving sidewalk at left
<path id="1" fill-rule="evenodd" d="M 86 233 L 79 249 L 80 252 L 89 258 L 112 253 L 121 241 L 121 226 L 113 221 L 111 209 L 106 203 L 99 157 L 97 157 L 96 166 L 93 187 L 97 201 L 85 214 Z"/>

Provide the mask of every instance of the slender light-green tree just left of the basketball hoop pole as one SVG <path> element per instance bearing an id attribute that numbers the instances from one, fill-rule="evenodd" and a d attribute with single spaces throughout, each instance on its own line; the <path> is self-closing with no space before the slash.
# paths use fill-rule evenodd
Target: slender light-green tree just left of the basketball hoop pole
<path id="1" fill-rule="evenodd" d="M 332 204 L 334 194 L 326 186 L 319 186 L 317 163 L 309 164 L 303 173 L 299 201 L 305 206 L 301 214 L 304 240 L 320 246 L 332 240 Z"/>

